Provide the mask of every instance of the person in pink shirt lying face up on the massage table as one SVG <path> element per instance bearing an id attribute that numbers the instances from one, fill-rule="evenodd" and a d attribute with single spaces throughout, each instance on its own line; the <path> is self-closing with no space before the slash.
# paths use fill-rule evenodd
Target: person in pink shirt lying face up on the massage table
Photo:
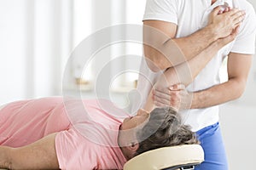
<path id="1" fill-rule="evenodd" d="M 139 110 L 127 117 L 110 101 L 81 101 L 84 109 L 79 101 L 62 98 L 5 105 L 0 111 L 0 167 L 122 169 L 147 150 L 198 143 L 172 108 Z"/>

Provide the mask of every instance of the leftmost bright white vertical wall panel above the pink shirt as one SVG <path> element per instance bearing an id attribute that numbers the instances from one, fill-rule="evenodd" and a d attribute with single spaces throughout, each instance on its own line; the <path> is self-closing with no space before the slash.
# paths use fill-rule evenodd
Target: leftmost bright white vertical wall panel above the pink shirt
<path id="1" fill-rule="evenodd" d="M 26 94 L 23 90 L 26 86 L 23 81 L 26 79 L 24 2 L 25 0 L 1 1 L 0 5 L 0 104 L 9 99 L 23 98 Z"/>

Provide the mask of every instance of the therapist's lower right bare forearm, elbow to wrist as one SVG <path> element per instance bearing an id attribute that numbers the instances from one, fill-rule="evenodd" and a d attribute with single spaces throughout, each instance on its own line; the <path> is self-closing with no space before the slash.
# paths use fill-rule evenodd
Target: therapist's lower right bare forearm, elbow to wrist
<path id="1" fill-rule="evenodd" d="M 191 109 L 201 109 L 221 105 L 238 99 L 244 91 L 246 82 L 230 79 L 228 82 L 213 86 L 206 90 L 193 93 Z"/>

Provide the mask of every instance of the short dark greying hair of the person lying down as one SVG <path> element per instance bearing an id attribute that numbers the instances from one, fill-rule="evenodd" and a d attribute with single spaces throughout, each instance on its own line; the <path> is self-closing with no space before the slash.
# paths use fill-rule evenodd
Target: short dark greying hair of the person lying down
<path id="1" fill-rule="evenodd" d="M 171 107 L 156 108 L 148 122 L 137 132 L 139 143 L 137 155 L 160 147 L 181 144 L 200 144 L 191 127 L 184 125 L 177 111 Z M 149 135 L 148 137 L 148 134 Z"/>

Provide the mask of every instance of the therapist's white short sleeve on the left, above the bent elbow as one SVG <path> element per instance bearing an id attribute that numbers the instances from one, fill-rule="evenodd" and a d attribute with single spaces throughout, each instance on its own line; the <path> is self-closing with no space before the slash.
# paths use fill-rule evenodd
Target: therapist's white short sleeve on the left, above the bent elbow
<path id="1" fill-rule="evenodd" d="M 177 0 L 147 0 L 143 20 L 163 20 L 177 24 Z"/>

